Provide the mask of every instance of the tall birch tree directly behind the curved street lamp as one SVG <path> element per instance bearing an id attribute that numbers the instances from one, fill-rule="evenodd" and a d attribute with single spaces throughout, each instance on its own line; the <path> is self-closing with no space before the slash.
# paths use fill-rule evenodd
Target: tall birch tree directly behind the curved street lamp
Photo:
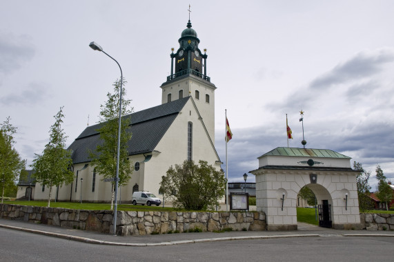
<path id="1" fill-rule="evenodd" d="M 123 85 L 127 82 L 123 81 Z M 119 130 L 119 101 L 120 88 L 122 88 L 122 106 L 121 106 L 121 141 L 119 152 L 119 186 L 126 185 L 131 178 L 132 165 L 128 159 L 127 144 L 131 139 L 131 132 L 129 130 L 130 118 L 124 117 L 132 112 L 130 108 L 130 100 L 126 99 L 126 90 L 122 86 L 120 79 L 113 84 L 114 93 L 108 92 L 107 101 L 104 105 L 100 105 L 99 128 L 97 132 L 100 133 L 102 143 L 97 145 L 94 152 L 90 152 L 90 159 L 92 165 L 95 166 L 98 174 L 103 176 L 103 179 L 112 179 L 116 175 L 117 166 L 117 139 Z M 111 210 L 113 207 L 115 193 L 115 183 L 112 182 L 112 201 Z"/>

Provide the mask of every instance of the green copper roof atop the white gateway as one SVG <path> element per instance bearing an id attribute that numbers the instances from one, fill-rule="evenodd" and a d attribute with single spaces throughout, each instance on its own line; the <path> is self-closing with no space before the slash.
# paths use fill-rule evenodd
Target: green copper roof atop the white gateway
<path id="1" fill-rule="evenodd" d="M 263 154 L 260 157 L 264 156 L 284 156 L 284 157 L 326 157 L 333 159 L 351 159 L 351 157 L 347 157 L 344 154 L 340 154 L 333 150 L 329 149 L 313 149 L 313 148 L 275 148 L 266 154 Z"/>

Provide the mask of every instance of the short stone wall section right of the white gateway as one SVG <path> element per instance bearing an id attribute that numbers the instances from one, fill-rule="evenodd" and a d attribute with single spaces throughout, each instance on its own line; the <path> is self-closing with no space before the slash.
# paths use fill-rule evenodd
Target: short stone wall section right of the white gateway
<path id="1" fill-rule="evenodd" d="M 394 214 L 359 214 L 362 228 L 366 230 L 394 230 Z"/>

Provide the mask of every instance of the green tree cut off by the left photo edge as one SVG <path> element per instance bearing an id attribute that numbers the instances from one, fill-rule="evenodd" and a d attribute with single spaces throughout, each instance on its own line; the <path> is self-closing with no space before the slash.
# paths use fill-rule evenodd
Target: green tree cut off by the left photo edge
<path id="1" fill-rule="evenodd" d="M 1 203 L 8 190 L 15 188 L 15 181 L 25 168 L 26 160 L 22 160 L 19 153 L 14 148 L 14 134 L 17 128 L 11 125 L 10 117 L 3 122 L 0 128 L 0 182 L 1 182 Z"/>

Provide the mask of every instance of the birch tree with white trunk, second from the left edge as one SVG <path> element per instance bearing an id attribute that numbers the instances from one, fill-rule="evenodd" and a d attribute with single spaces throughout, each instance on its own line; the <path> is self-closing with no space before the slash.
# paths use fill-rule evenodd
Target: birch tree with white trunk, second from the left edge
<path id="1" fill-rule="evenodd" d="M 42 154 L 35 154 L 32 165 L 35 170 L 37 182 L 49 188 L 48 208 L 52 186 L 69 184 L 74 179 L 74 173 L 70 170 L 72 166 L 71 151 L 66 150 L 66 134 L 61 128 L 63 123 L 63 107 L 54 116 L 55 123 L 50 127 L 49 143 L 45 146 Z"/>

